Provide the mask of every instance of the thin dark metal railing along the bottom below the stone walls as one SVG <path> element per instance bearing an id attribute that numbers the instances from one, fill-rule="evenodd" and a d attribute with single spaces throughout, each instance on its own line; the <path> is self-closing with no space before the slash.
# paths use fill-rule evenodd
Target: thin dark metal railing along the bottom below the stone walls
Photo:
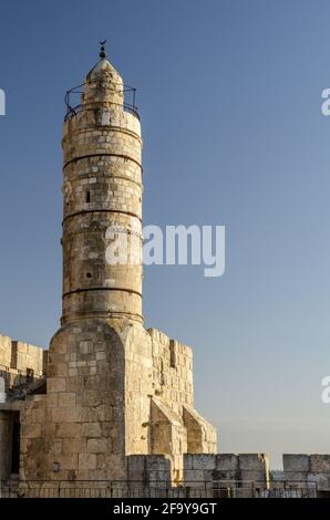
<path id="1" fill-rule="evenodd" d="M 316 482 L 197 481 L 0 481 L 0 498 L 317 498 Z"/>

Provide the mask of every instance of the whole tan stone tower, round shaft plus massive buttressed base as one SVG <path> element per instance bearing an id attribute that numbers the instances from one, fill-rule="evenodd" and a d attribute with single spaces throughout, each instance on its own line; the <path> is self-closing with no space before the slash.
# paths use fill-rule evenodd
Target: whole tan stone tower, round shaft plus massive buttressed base
<path id="1" fill-rule="evenodd" d="M 216 450 L 193 407 L 190 349 L 143 326 L 141 125 L 100 58 L 64 122 L 63 312 L 47 394 L 21 414 L 27 480 L 124 480 L 128 456 L 152 454 L 179 478 L 184 453 Z"/>

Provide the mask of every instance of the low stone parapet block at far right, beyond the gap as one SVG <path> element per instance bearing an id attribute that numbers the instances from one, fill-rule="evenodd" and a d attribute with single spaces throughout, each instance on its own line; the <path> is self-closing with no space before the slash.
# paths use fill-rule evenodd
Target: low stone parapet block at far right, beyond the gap
<path id="1" fill-rule="evenodd" d="M 295 480 L 299 487 L 317 482 L 319 490 L 330 491 L 330 455 L 283 455 L 283 479 Z"/>

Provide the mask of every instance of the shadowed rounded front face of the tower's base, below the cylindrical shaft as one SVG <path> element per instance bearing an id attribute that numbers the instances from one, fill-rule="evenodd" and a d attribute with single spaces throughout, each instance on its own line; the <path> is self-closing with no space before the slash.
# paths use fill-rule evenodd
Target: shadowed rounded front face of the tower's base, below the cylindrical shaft
<path id="1" fill-rule="evenodd" d="M 52 340 L 48 394 L 22 413 L 23 479 L 124 479 L 124 350 L 103 320 Z"/>

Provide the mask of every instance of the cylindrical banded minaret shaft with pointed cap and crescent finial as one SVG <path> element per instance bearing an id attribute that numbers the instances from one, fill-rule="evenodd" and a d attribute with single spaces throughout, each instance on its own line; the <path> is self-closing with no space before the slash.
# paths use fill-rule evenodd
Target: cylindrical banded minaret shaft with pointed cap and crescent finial
<path id="1" fill-rule="evenodd" d="M 100 61 L 63 128 L 62 324 L 86 318 L 142 322 L 142 139 L 121 75 Z M 112 254 L 127 246 L 127 258 Z M 112 260 L 112 258 L 114 259 Z"/>

